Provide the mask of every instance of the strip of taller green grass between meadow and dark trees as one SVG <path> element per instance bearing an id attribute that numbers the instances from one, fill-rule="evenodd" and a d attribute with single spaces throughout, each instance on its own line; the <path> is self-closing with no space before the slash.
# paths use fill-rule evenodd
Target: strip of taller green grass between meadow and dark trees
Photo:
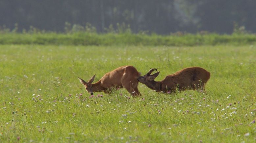
<path id="1" fill-rule="evenodd" d="M 1 33 L 1 31 L 0 31 Z M 83 46 L 200 46 L 249 45 L 256 43 L 256 34 L 134 34 L 134 33 L 1 33 L 0 44 L 83 45 Z"/>

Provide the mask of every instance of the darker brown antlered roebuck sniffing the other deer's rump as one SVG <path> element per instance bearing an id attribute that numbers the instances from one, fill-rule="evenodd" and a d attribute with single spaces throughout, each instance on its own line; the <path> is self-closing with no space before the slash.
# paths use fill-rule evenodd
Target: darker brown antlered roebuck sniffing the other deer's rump
<path id="1" fill-rule="evenodd" d="M 158 67 L 159 68 L 159 67 Z M 154 81 L 160 72 L 158 68 L 151 69 L 147 74 L 140 76 L 138 81 L 156 92 L 175 92 L 182 90 L 204 90 L 204 85 L 210 78 L 210 72 L 200 67 L 190 67 L 167 75 L 162 81 Z M 153 71 L 156 73 L 150 75 Z"/>

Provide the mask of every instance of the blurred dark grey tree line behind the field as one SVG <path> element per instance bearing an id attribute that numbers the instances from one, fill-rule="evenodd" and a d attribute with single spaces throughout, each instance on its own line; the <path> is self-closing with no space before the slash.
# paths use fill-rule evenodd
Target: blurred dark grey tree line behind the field
<path id="1" fill-rule="evenodd" d="M 256 0 L 1 0 L 0 17 L 0 29 L 15 31 L 256 33 Z"/>

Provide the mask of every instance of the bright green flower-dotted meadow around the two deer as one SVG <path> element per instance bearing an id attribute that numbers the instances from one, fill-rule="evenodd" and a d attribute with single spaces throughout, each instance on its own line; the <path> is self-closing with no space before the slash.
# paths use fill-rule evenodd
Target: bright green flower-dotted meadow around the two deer
<path id="1" fill-rule="evenodd" d="M 0 53 L 0 142 L 256 140 L 256 45 L 0 45 Z M 89 98 L 77 79 L 97 81 L 123 65 L 142 75 L 160 66 L 156 81 L 190 66 L 211 78 L 206 93 L 139 84 L 139 98 L 124 89 Z"/>

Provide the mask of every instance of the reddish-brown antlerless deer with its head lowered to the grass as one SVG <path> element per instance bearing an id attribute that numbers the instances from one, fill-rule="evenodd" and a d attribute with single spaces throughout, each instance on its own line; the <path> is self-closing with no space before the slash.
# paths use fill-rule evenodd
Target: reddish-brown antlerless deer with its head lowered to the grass
<path id="1" fill-rule="evenodd" d="M 92 84 L 95 75 L 88 82 L 79 78 L 80 82 L 85 86 L 87 92 L 93 95 L 93 92 L 111 93 L 111 90 L 124 87 L 132 96 L 139 96 L 138 77 L 140 73 L 133 66 L 122 66 L 103 75 L 96 83 Z"/>

